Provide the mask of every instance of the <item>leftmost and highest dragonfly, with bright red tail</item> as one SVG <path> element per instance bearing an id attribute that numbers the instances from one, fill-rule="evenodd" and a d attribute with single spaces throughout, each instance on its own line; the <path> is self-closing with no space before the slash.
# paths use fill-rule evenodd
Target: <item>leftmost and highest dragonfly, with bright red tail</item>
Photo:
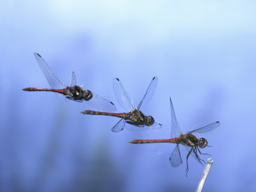
<path id="1" fill-rule="evenodd" d="M 76 85 L 76 74 L 72 73 L 70 86 L 67 86 L 60 77 L 58 77 L 51 67 L 46 63 L 44 58 L 37 52 L 34 53 L 36 61 L 44 73 L 45 78 L 50 84 L 51 88 L 24 88 L 26 92 L 55 92 L 65 95 L 67 99 L 74 100 L 76 102 L 86 101 L 87 104 L 95 109 L 103 111 L 116 111 L 116 106 L 108 99 L 104 99 L 99 95 L 91 92 L 90 90 L 84 90 L 81 86 Z"/>

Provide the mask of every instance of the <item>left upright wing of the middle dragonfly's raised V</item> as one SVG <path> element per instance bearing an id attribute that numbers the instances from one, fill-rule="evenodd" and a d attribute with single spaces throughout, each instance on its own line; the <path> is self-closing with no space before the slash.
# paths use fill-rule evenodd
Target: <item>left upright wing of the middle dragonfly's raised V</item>
<path id="1" fill-rule="evenodd" d="M 136 107 L 134 106 L 131 97 L 125 91 L 124 86 L 118 78 L 113 79 L 113 90 L 115 93 L 116 100 L 118 104 L 122 106 L 122 108 L 124 108 L 127 111 L 136 110 Z"/>

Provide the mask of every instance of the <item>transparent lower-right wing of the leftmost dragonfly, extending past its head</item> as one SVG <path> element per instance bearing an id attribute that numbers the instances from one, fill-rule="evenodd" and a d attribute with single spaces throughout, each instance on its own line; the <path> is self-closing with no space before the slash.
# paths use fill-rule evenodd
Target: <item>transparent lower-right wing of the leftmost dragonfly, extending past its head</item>
<path id="1" fill-rule="evenodd" d="M 99 95 L 92 93 L 92 99 L 86 100 L 86 103 L 95 109 L 102 111 L 116 111 L 116 106 L 108 99 L 100 97 Z"/>

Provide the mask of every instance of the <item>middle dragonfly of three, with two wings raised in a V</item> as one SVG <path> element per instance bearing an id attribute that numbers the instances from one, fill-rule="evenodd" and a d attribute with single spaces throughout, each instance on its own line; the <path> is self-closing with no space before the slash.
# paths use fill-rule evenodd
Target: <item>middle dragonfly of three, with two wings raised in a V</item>
<path id="1" fill-rule="evenodd" d="M 113 79 L 113 90 L 116 100 L 122 108 L 129 111 L 129 113 L 105 113 L 99 111 L 82 111 L 81 113 L 86 115 L 106 115 L 116 116 L 121 120 L 111 129 L 112 132 L 120 132 L 123 129 L 129 131 L 147 131 L 153 129 L 160 129 L 163 125 L 155 122 L 152 116 L 146 116 L 141 111 L 141 106 L 148 103 L 152 99 L 154 92 L 156 91 L 158 78 L 154 77 L 148 86 L 147 92 L 140 101 L 140 104 L 136 108 L 133 100 L 125 91 L 124 86 L 118 78 Z"/>

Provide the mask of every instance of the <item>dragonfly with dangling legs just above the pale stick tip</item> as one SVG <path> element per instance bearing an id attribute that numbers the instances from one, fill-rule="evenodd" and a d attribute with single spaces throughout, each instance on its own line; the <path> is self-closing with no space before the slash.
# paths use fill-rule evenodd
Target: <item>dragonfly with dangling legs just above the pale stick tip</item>
<path id="1" fill-rule="evenodd" d="M 205 148 L 205 147 L 211 147 L 208 145 L 208 141 L 205 140 L 205 138 L 200 138 L 197 139 L 195 135 L 192 133 L 197 132 L 197 133 L 203 133 L 203 132 L 209 132 L 212 131 L 213 129 L 216 129 L 219 125 L 220 122 L 214 122 L 212 124 L 206 125 L 204 127 L 201 127 L 199 129 L 195 129 L 193 131 L 189 131 L 186 134 L 182 134 L 179 124 L 177 122 L 174 109 L 173 109 L 173 104 L 172 100 L 170 98 L 170 106 L 171 106 L 171 114 L 172 114 L 172 131 L 171 131 L 171 139 L 166 139 L 166 140 L 132 140 L 129 141 L 129 143 L 133 144 L 143 144 L 143 143 L 176 143 L 176 147 L 174 148 L 171 156 L 170 156 L 170 163 L 173 167 L 178 167 L 180 164 L 182 164 L 182 159 L 180 157 L 180 150 L 179 150 L 179 144 L 184 145 L 187 150 L 188 154 L 186 157 L 186 163 L 187 163 L 187 168 L 186 168 L 186 176 L 188 175 L 188 157 L 191 155 L 193 156 L 196 161 L 202 164 L 202 161 L 204 160 L 200 159 L 198 152 L 200 152 L 199 148 Z M 202 155 L 209 155 L 209 154 L 202 154 Z M 205 163 L 205 162 L 204 162 Z"/>

